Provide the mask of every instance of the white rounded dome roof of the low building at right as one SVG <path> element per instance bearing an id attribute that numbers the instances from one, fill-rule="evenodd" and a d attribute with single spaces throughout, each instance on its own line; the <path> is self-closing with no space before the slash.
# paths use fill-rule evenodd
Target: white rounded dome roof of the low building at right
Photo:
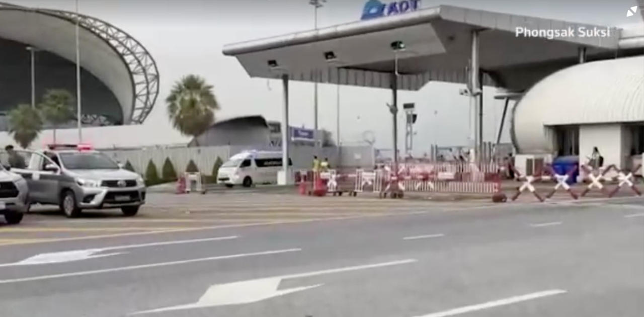
<path id="1" fill-rule="evenodd" d="M 547 126 L 644 122 L 644 56 L 587 62 L 545 77 L 513 110 L 520 153 L 552 153 Z"/>

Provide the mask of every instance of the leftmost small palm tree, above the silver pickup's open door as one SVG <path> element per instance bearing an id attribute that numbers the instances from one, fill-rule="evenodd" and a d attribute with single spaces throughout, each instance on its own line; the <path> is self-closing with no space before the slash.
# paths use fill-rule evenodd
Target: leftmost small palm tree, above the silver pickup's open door
<path id="1" fill-rule="evenodd" d="M 43 119 L 30 104 L 19 104 L 9 111 L 9 134 L 23 149 L 28 148 L 43 129 Z"/>

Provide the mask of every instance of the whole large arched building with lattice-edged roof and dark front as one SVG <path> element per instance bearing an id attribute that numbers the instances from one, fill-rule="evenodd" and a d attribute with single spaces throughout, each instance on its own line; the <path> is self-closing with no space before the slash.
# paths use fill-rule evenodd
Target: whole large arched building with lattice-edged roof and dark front
<path id="1" fill-rule="evenodd" d="M 158 96 L 153 57 L 126 31 L 88 15 L 0 3 L 0 130 L 18 104 L 35 104 L 48 89 L 76 95 L 79 24 L 82 122 L 140 124 Z M 75 120 L 75 119 L 74 119 Z"/>

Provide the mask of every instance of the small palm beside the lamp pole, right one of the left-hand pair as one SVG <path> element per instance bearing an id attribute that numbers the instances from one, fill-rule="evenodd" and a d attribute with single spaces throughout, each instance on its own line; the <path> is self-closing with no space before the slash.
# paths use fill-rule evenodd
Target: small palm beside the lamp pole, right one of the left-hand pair
<path id="1" fill-rule="evenodd" d="M 56 143 L 56 128 L 74 117 L 74 97 L 64 89 L 50 89 L 43 96 L 39 108 L 44 119 L 53 126 L 53 143 Z"/>

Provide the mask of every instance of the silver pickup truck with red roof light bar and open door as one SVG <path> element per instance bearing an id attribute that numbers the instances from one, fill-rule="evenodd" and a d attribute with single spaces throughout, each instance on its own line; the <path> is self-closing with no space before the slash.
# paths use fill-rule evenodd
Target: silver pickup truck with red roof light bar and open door
<path id="1" fill-rule="evenodd" d="M 146 202 L 143 178 L 99 151 L 51 146 L 15 152 L 24 162 L 11 166 L 11 171 L 26 180 L 32 204 L 60 206 L 68 217 L 80 215 L 82 209 L 106 208 L 120 208 L 124 215 L 134 216 Z"/>

